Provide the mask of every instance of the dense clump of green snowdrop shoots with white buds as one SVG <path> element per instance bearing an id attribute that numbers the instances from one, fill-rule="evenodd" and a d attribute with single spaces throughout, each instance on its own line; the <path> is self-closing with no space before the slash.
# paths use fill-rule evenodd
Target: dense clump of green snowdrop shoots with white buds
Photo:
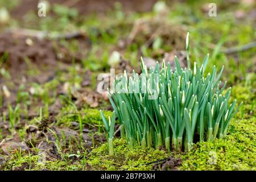
<path id="1" fill-rule="evenodd" d="M 242 103 L 237 109 L 234 109 L 236 100 L 228 104 L 230 88 L 225 94 L 226 82 L 220 88 L 223 67 L 216 75 L 214 66 L 204 77 L 209 54 L 203 65 L 195 62 L 191 69 L 189 33 L 186 50 L 187 68 L 180 67 L 176 56 L 174 71 L 164 61 L 162 68 L 156 63 L 155 68 L 148 69 L 141 59 L 141 75 L 133 71 L 127 76 L 125 71 L 115 78 L 114 92 L 109 92 L 109 99 L 121 125 L 121 133 L 125 133 L 121 137 L 127 139 L 130 148 L 137 143 L 142 147 L 165 145 L 168 150 L 181 151 L 182 148 L 192 148 L 197 142 L 196 133 L 200 141 L 225 137 L 229 123 Z M 103 114 L 102 118 L 109 131 Z"/>

